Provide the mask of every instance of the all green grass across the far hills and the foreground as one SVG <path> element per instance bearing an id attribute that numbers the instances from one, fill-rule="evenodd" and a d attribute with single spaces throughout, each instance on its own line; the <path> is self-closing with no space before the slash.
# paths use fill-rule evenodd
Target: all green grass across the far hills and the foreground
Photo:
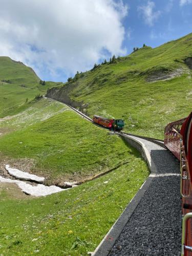
<path id="1" fill-rule="evenodd" d="M 80 74 L 65 86 L 46 82 L 42 87 L 30 68 L 0 58 L 0 93 L 4 94 L 0 115 L 5 116 L 0 122 L 1 158 L 34 160 L 31 171 L 45 175 L 49 184 L 83 179 L 127 162 L 105 176 L 48 197 L 19 196 L 15 186 L 3 186 L 0 253 L 87 255 L 148 175 L 140 154 L 121 138 L 61 103 L 33 100 L 36 93 L 56 85 L 73 101 L 84 103 L 82 108 L 90 116 L 123 118 L 125 131 L 162 138 L 167 122 L 191 111 L 191 71 L 184 63 L 192 56 L 191 44 L 189 34 L 155 49 L 144 47 L 115 64 Z M 179 70 L 183 74 L 173 79 L 147 82 Z"/>

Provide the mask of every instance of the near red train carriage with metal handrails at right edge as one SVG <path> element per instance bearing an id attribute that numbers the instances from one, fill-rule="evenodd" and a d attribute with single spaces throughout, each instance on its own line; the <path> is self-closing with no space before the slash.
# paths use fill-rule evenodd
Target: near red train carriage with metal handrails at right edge
<path id="1" fill-rule="evenodd" d="M 182 199 L 181 256 L 192 255 L 192 112 L 167 124 L 164 144 L 180 160 Z"/>

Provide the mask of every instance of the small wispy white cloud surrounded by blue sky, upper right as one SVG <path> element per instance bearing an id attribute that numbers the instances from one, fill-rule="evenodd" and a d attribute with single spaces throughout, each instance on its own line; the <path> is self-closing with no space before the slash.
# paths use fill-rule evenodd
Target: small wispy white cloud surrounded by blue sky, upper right
<path id="1" fill-rule="evenodd" d="M 154 11 L 154 8 L 155 3 L 152 1 L 148 1 L 146 5 L 138 7 L 138 11 L 142 14 L 144 22 L 149 26 L 153 26 L 154 22 L 159 18 L 161 14 L 160 11 Z"/>

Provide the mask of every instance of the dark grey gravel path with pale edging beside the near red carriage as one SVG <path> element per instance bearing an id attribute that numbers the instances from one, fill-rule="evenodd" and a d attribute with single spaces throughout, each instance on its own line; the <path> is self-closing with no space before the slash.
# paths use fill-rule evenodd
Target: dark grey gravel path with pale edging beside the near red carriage
<path id="1" fill-rule="evenodd" d="M 144 139 L 158 174 L 125 225 L 110 255 L 178 256 L 181 250 L 179 161 Z"/>

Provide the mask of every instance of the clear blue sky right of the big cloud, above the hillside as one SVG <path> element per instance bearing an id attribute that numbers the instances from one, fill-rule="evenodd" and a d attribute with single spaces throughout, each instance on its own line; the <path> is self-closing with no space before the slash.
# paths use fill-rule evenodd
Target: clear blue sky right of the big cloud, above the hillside
<path id="1" fill-rule="evenodd" d="M 154 3 L 154 18 L 151 23 L 147 23 L 147 17 L 143 16 L 139 7 L 147 8 L 150 2 Z M 124 3 L 130 7 L 128 15 L 123 19 L 123 26 L 128 34 L 123 41 L 127 53 L 130 53 L 133 47 L 142 47 L 143 43 L 154 48 L 192 33 L 192 1 L 183 2 L 183 5 L 179 0 L 135 0 Z"/>

